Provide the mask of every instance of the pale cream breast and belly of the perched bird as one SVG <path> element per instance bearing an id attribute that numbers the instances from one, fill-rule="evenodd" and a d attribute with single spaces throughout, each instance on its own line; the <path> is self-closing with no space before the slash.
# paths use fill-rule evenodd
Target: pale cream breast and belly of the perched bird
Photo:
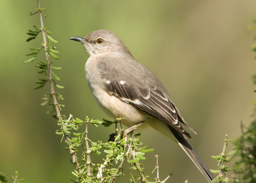
<path id="1" fill-rule="evenodd" d="M 101 76 L 100 70 L 97 67 L 97 62 L 97 59 L 90 57 L 85 64 L 85 72 L 93 98 L 100 108 L 113 119 L 124 118 L 122 124 L 127 127 L 141 121 L 149 120 L 150 117 L 148 114 L 106 91 L 104 78 Z"/>

